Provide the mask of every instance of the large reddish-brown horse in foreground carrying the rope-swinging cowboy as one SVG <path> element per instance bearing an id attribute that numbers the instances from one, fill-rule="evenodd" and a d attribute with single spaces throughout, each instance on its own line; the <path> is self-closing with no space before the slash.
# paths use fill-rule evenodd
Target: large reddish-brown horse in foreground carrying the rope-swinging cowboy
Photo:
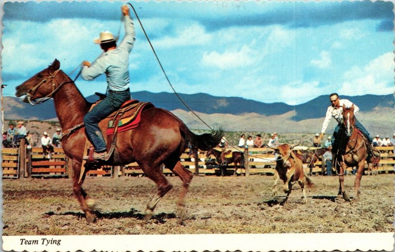
<path id="1" fill-rule="evenodd" d="M 77 89 L 74 82 L 60 69 L 58 60 L 48 68 L 38 72 L 33 77 L 16 87 L 16 96 L 27 95 L 31 102 L 40 103 L 53 98 L 56 114 L 63 132 L 82 123 L 84 115 L 89 111 L 88 103 Z M 99 123 L 104 136 L 109 122 L 106 118 Z M 139 127 L 118 133 L 114 157 L 107 164 L 126 165 L 137 162 L 146 176 L 158 186 L 158 193 L 148 202 L 146 218 L 153 215 L 159 200 L 172 188 L 172 185 L 161 173 L 160 166 L 164 164 L 174 172 L 183 182 L 181 196 L 177 203 L 181 211 L 184 210 L 184 198 L 193 174 L 185 169 L 179 157 L 186 149 L 187 141 L 192 146 L 207 150 L 219 144 L 222 131 L 211 134 L 195 135 L 175 115 L 161 108 L 147 108 L 141 113 Z M 89 199 L 81 185 L 85 174 L 79 181 L 82 155 L 86 135 L 83 127 L 64 136 L 62 146 L 66 155 L 73 160 L 73 191 L 76 195 L 86 220 L 93 222 L 96 216 L 92 214 L 92 199 Z M 88 203 L 88 204 L 87 204 Z"/>

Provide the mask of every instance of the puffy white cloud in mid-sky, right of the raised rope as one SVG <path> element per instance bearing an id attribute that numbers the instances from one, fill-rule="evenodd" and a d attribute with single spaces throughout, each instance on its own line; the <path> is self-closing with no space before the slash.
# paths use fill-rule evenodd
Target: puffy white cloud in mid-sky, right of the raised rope
<path id="1" fill-rule="evenodd" d="M 204 52 L 201 61 L 204 66 L 229 70 L 250 66 L 255 61 L 254 54 L 254 50 L 244 45 L 239 51 L 225 51 L 222 54 L 217 51 Z"/>

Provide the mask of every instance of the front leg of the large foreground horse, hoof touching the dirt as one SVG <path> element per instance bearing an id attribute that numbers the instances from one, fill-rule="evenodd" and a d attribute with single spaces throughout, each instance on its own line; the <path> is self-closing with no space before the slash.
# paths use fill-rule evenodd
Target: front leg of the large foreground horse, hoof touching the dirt
<path id="1" fill-rule="evenodd" d="M 91 212 L 95 201 L 92 198 L 87 197 L 86 192 L 82 189 L 82 183 L 85 179 L 85 175 L 82 177 L 82 180 L 78 182 L 80 170 L 81 163 L 77 160 L 73 160 L 73 192 L 77 197 L 81 210 L 85 213 L 86 221 L 95 222 L 96 216 Z"/>

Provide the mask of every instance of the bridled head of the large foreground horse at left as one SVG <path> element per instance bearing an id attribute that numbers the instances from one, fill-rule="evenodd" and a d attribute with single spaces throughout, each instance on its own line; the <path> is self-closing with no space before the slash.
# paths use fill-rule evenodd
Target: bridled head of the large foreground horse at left
<path id="1" fill-rule="evenodd" d="M 48 97 L 55 89 L 53 78 L 59 68 L 60 62 L 55 59 L 48 68 L 36 73 L 33 77 L 17 86 L 15 88 L 15 96 L 21 97 L 27 95 L 28 99 L 25 99 L 24 102 Z"/>

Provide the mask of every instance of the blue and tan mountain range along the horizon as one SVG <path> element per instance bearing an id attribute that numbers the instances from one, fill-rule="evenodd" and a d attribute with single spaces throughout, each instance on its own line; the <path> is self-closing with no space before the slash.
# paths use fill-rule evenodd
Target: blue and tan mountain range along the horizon
<path id="1" fill-rule="evenodd" d="M 240 129 L 261 130 L 262 128 L 280 131 L 276 130 L 280 128 L 283 132 L 292 132 L 295 129 L 289 129 L 287 126 L 291 123 L 298 127 L 298 132 L 317 132 L 320 130 L 329 106 L 328 95 L 318 96 L 296 106 L 285 103 L 262 103 L 240 97 L 217 97 L 204 93 L 179 95 L 200 117 L 211 122 L 209 125 L 236 131 Z M 190 128 L 205 128 L 204 124 L 199 122 L 197 117 L 192 116 L 189 109 L 173 93 L 141 91 L 133 92 L 132 97 L 140 101 L 150 101 L 158 108 L 172 111 Z M 377 128 L 385 132 L 394 129 L 395 100 L 392 94 L 341 96 L 341 98 L 352 101 L 360 108 L 357 118 L 366 121 L 363 124 L 370 125 L 366 126 L 367 128 Z M 94 102 L 98 98 L 92 95 L 86 99 Z M 19 98 L 6 96 L 3 97 L 3 105 L 5 119 L 57 120 L 52 100 L 31 106 L 23 103 Z M 229 123 L 230 121 L 232 123 Z M 380 121 L 380 124 L 376 125 L 375 121 Z"/>

